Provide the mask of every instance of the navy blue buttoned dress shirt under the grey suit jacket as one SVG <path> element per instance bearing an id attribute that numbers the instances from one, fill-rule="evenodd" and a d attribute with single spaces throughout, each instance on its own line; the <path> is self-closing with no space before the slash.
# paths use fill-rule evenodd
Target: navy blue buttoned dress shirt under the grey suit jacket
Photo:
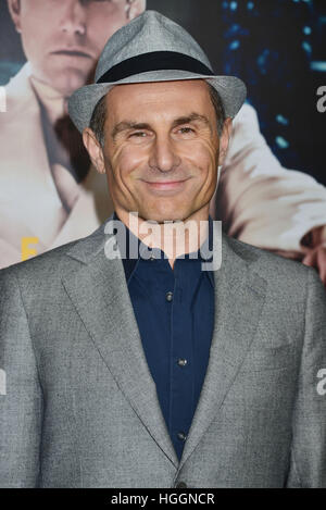
<path id="1" fill-rule="evenodd" d="M 114 219 L 118 220 L 114 213 Z M 209 219 L 212 247 L 212 219 Z M 206 373 L 214 326 L 214 276 L 198 258 L 177 258 L 171 268 L 164 252 L 155 258 L 123 259 L 127 286 L 158 399 L 180 460 Z M 117 238 L 117 242 L 118 238 Z M 137 238 L 138 248 L 142 242 Z M 142 245 L 143 246 L 143 245 Z M 139 253 L 139 250 L 138 250 Z"/>

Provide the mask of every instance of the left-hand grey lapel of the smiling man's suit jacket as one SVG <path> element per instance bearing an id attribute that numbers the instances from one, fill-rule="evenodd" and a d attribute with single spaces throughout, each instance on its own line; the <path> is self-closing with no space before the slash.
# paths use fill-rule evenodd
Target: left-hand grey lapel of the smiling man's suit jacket
<path id="1" fill-rule="evenodd" d="M 97 246 L 91 261 L 66 275 L 63 285 L 116 384 L 153 439 L 177 468 L 178 458 L 143 352 L 123 263 L 105 258 L 102 227 L 97 231 L 98 235 L 87 238 L 88 245 L 82 241 L 71 250 L 71 257 L 85 261 Z"/>

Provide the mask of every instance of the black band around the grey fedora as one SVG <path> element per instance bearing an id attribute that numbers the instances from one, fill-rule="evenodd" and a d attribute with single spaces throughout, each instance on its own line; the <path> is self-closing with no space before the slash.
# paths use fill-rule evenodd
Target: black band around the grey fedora
<path id="1" fill-rule="evenodd" d="M 118 82 L 135 74 L 149 71 L 188 71 L 189 73 L 214 76 L 214 73 L 200 60 L 176 51 L 151 51 L 131 57 L 104 73 L 97 84 Z"/>

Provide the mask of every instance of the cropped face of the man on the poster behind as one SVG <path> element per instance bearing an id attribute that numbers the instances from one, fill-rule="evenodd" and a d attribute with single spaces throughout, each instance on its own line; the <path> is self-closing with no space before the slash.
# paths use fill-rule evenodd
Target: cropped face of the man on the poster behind
<path id="1" fill-rule="evenodd" d="M 33 74 L 64 96 L 85 84 L 106 40 L 133 17 L 133 3 L 145 2 L 9 0 Z"/>

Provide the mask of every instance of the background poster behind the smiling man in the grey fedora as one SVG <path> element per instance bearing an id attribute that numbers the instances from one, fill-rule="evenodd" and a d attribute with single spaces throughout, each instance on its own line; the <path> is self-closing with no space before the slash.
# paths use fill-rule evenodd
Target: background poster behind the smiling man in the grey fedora
<path id="1" fill-rule="evenodd" d="M 35 9 L 35 33 L 29 36 L 35 46 L 41 46 L 38 14 L 45 5 L 47 23 L 60 41 L 59 21 L 70 23 L 71 30 L 73 22 L 85 23 L 91 34 L 103 20 L 98 28 L 113 33 L 122 20 L 118 13 L 142 3 L 12 2 Z M 237 140 L 217 190 L 216 217 L 229 235 L 298 260 L 304 256 L 302 237 L 326 224 L 323 7 L 322 0 L 147 1 L 147 9 L 190 32 L 216 74 L 239 76 L 248 87 L 251 108 L 239 116 Z M 10 89 L 10 78 L 26 64 L 26 51 L 5 0 L 0 0 L 0 10 L 1 268 L 90 234 L 111 213 L 112 203 L 105 179 L 89 170 L 80 136 L 65 117 L 54 83 L 33 85 L 34 110 L 30 90 L 27 94 L 22 85 Z M 106 17 L 92 14 L 100 10 Z M 80 45 L 87 35 L 82 36 Z M 91 43 L 90 39 L 89 48 Z M 93 55 L 100 50 L 92 49 Z M 52 117 L 49 112 L 59 107 L 62 111 Z"/>

